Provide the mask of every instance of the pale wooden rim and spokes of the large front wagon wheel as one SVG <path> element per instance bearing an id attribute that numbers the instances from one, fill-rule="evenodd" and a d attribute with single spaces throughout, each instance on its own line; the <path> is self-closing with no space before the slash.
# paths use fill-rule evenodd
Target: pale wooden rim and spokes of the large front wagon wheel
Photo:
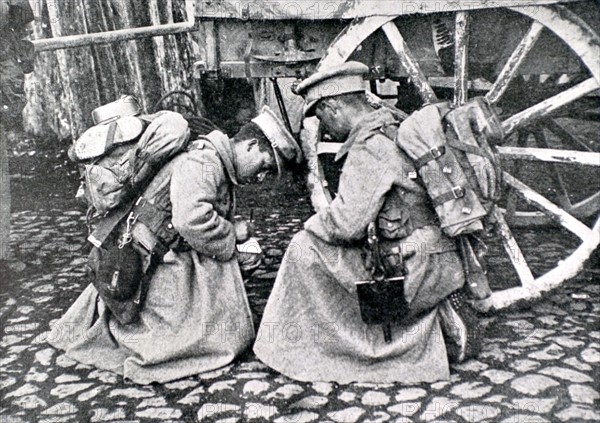
<path id="1" fill-rule="evenodd" d="M 512 161 L 524 161 L 525 166 L 529 163 L 542 163 L 551 169 L 569 165 L 577 168 L 585 166 L 588 175 L 597 175 L 600 167 L 598 150 L 580 151 L 572 147 L 579 140 L 570 135 L 563 126 L 557 124 L 553 117 L 557 111 L 570 107 L 600 88 L 600 38 L 589 25 L 563 6 L 537 6 L 534 9 L 511 7 L 509 9 L 529 18 L 530 26 L 510 58 L 503 64 L 495 82 L 487 88 L 486 97 L 490 102 L 500 102 L 511 82 L 514 83 L 515 78 L 518 77 L 519 67 L 530 54 L 542 32 L 552 34 L 553 37 L 562 40 L 578 56 L 586 71 L 586 77 L 576 84 L 567 84 L 562 91 L 505 118 L 503 127 L 508 134 L 521 132 L 516 137 L 517 145 L 500 147 L 500 154 Z M 333 41 L 325 57 L 319 63 L 318 69 L 325 69 L 347 61 L 369 36 L 381 30 L 397 54 L 400 64 L 411 82 L 418 89 L 423 103 L 434 102 L 437 99 L 436 93 L 402 36 L 401 28 L 394 23 L 395 18 L 393 16 L 374 16 L 354 21 Z M 469 12 L 456 12 L 454 21 L 454 102 L 462 104 L 468 98 L 469 87 L 472 86 L 471 84 L 474 85 L 474 81 L 470 81 L 468 78 Z M 305 120 L 306 127 L 310 127 L 311 123 L 314 127 L 314 121 Z M 545 136 L 548 130 L 565 142 L 560 146 L 549 143 L 548 137 Z M 527 146 L 527 138 L 530 134 L 533 134 L 537 141 L 535 148 Z M 316 154 L 309 153 L 307 155 L 309 161 L 312 162 L 310 168 L 313 170 L 309 182 L 313 181 L 313 204 L 315 208 L 319 209 L 324 203 L 330 201 L 331 197 L 318 155 L 333 153 L 339 145 L 321 142 L 317 144 L 314 136 L 308 144 L 310 145 L 311 142 L 313 146 L 316 146 L 313 149 L 313 153 L 316 150 Z M 523 167 L 523 165 L 517 166 L 517 168 Z M 598 192 L 594 191 L 588 197 L 573 204 L 568 201 L 565 191 L 561 191 L 566 183 L 561 179 L 560 172 L 556 171 L 553 181 L 556 184 L 562 184 L 557 191 L 564 195 L 562 195 L 562 201 L 559 198 L 559 201 L 556 201 L 558 204 L 555 204 L 554 198 L 553 201 L 550 201 L 542 193 L 530 188 L 528 186 L 530 181 L 527 183 L 521 181 L 518 171 L 515 173 L 512 175 L 505 172 L 506 184 L 511 192 L 535 207 L 537 211 L 521 211 L 516 208 L 512 199 L 513 194 L 509 194 L 505 209 L 495 211 L 499 222 L 496 231 L 498 244 L 502 244 L 503 250 L 508 256 L 505 264 L 508 262 L 512 264 L 520 286 L 495 291 L 492 298 L 484 305 L 486 308 L 503 308 L 521 299 L 538 297 L 542 292 L 560 285 L 581 270 L 583 263 L 600 243 L 600 218 L 597 216 L 600 200 Z M 586 181 L 581 182 L 585 183 Z M 561 196 L 559 195 L 559 197 Z M 580 220 L 583 212 L 592 214 L 595 223 L 588 224 Z M 508 217 L 508 223 L 505 216 Z M 542 266 L 533 271 L 535 266 L 532 266 L 531 262 L 528 263 L 530 254 L 523 247 L 543 248 L 543 246 L 535 241 L 528 242 L 527 236 L 523 237 L 525 241 L 517 242 L 516 238 L 519 237 L 515 237 L 514 223 L 522 223 L 519 221 L 522 217 L 530 218 L 533 221 L 544 218 L 546 221 L 559 224 L 561 228 L 555 233 L 560 234 L 561 240 L 554 242 L 554 245 L 564 245 L 567 238 L 570 240 L 569 242 L 573 243 L 572 247 L 563 253 L 567 255 L 566 257 L 557 255 L 555 267 L 548 269 Z M 505 271 L 506 269 L 503 269 L 502 274 Z"/>

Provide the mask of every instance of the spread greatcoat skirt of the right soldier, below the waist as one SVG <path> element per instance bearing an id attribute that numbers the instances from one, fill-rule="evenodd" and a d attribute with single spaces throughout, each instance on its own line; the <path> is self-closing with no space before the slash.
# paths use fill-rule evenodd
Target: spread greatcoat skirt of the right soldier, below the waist
<path id="1" fill-rule="evenodd" d="M 361 250 L 296 234 L 284 256 L 254 344 L 269 367 L 300 381 L 415 384 L 450 377 L 436 304 L 464 283 L 454 251 L 407 260 L 405 290 L 418 312 L 392 325 L 360 317 L 355 282 L 370 275 Z"/>

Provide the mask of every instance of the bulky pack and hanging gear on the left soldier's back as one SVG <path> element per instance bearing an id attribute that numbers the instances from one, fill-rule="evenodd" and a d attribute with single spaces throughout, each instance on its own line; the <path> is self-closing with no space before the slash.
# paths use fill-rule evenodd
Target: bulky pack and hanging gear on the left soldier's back
<path id="1" fill-rule="evenodd" d="M 96 109 L 93 116 L 100 123 L 69 150 L 83 168 L 78 196 L 89 206 L 91 282 L 124 324 L 137 320 L 146 282 L 178 241 L 170 226 L 168 195 L 163 195 L 170 181 L 165 165 L 189 140 L 181 115 L 136 116 L 137 103 L 131 99 Z"/>

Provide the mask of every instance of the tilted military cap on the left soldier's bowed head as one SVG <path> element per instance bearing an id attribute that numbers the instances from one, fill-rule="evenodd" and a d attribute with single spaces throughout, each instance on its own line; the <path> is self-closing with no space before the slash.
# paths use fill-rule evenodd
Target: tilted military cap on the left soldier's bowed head
<path id="1" fill-rule="evenodd" d="M 260 128 L 271 143 L 275 152 L 278 174 L 281 174 L 285 163 L 299 164 L 302 162 L 302 149 L 269 106 L 264 106 L 258 116 L 252 119 L 252 122 Z"/>

